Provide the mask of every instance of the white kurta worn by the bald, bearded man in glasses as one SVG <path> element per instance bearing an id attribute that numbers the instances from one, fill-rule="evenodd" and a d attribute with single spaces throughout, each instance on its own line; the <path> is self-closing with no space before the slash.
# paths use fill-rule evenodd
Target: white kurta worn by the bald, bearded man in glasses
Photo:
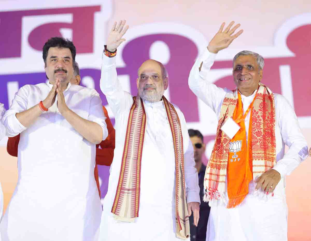
<path id="1" fill-rule="evenodd" d="M 146 133 L 142 151 L 139 217 L 134 223 L 113 218 L 111 208 L 119 180 L 128 115 L 133 104 L 132 95 L 123 91 L 117 78 L 115 58 L 103 56 L 100 88 L 106 95 L 116 124 L 116 147 L 110 167 L 108 192 L 104 198 L 100 241 L 172 241 L 175 229 L 175 158 L 172 132 L 163 101 L 144 101 Z M 197 170 L 194 168 L 193 146 L 190 142 L 185 118 L 175 106 L 179 116 L 184 150 L 184 170 L 187 202 L 200 202 Z"/>

